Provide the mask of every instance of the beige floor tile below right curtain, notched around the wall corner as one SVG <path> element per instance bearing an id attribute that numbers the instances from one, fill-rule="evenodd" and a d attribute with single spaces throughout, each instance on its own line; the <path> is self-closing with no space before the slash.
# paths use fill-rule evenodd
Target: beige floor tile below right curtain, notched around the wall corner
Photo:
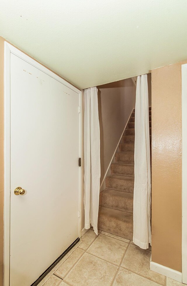
<path id="1" fill-rule="evenodd" d="M 141 249 L 134 244 L 130 244 L 122 262 L 122 267 L 165 285 L 165 276 L 149 269 L 150 256 L 151 251 L 148 249 Z"/>

